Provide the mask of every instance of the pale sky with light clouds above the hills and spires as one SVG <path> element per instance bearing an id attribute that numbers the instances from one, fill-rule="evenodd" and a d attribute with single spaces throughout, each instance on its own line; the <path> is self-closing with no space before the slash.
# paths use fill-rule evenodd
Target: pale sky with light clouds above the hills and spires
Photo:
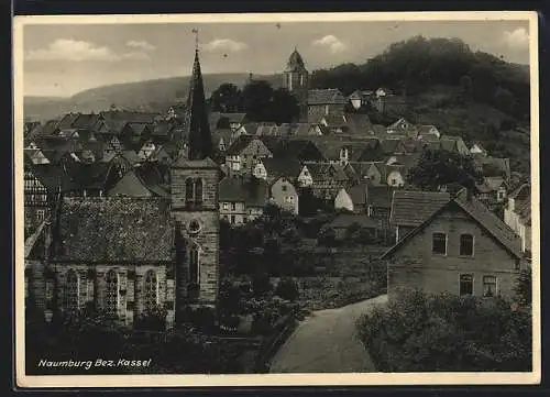
<path id="1" fill-rule="evenodd" d="M 199 31 L 204 74 L 280 73 L 295 47 L 311 71 L 363 63 L 415 35 L 458 37 L 473 51 L 529 64 L 528 21 L 25 24 L 25 96 L 81 90 L 191 71 Z"/>

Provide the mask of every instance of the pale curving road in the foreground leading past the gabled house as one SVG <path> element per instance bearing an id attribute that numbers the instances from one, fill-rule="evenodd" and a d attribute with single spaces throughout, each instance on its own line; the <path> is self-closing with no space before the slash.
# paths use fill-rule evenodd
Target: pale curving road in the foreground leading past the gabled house
<path id="1" fill-rule="evenodd" d="M 270 373 L 376 372 L 363 344 L 355 337 L 355 321 L 387 295 L 314 311 L 304 320 L 272 360 Z"/>

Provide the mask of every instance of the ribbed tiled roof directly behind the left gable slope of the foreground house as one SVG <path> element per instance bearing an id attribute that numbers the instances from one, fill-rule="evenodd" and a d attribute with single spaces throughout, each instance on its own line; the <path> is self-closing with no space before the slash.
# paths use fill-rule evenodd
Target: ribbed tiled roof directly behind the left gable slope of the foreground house
<path id="1" fill-rule="evenodd" d="M 418 227 L 450 198 L 448 192 L 440 191 L 395 190 L 389 222 L 394 225 Z"/>

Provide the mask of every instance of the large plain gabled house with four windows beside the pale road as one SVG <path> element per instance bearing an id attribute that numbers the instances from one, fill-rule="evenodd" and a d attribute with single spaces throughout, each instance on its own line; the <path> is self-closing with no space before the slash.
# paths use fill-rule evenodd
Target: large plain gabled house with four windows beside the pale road
<path id="1" fill-rule="evenodd" d="M 519 239 L 475 198 L 451 199 L 382 256 L 388 297 L 403 289 L 512 297 L 519 250 Z"/>

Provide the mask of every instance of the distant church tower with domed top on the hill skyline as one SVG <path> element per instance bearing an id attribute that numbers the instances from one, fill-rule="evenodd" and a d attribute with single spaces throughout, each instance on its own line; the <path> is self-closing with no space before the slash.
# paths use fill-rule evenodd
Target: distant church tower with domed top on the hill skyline
<path id="1" fill-rule="evenodd" d="M 300 107 L 300 122 L 307 122 L 308 119 L 308 85 L 309 73 L 306 69 L 304 58 L 297 48 L 288 58 L 285 73 L 283 74 L 283 87 L 293 93 L 298 100 Z"/>

